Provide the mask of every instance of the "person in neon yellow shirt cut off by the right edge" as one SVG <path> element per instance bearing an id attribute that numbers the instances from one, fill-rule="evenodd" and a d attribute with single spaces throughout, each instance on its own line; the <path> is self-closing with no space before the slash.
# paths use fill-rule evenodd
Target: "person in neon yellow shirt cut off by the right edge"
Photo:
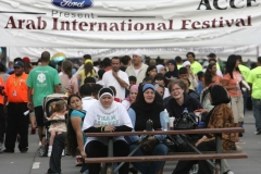
<path id="1" fill-rule="evenodd" d="M 250 71 L 247 82 L 252 87 L 252 111 L 256 119 L 256 135 L 261 134 L 261 57 L 258 58 L 258 66 Z"/>

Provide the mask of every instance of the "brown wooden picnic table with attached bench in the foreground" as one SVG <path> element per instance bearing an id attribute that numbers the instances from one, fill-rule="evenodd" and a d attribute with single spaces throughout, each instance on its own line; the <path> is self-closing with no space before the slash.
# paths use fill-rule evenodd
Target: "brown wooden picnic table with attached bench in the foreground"
<path id="1" fill-rule="evenodd" d="M 149 161 L 188 161 L 188 160 L 215 160 L 215 174 L 220 173 L 221 159 L 246 159 L 247 153 L 238 150 L 222 152 L 222 133 L 244 133 L 240 127 L 233 128 L 203 128 L 186 130 L 167 130 L 167 132 L 124 132 L 124 133 L 87 133 L 87 137 L 115 137 L 115 136 L 134 136 L 134 135 L 181 135 L 181 134 L 214 134 L 216 141 L 215 152 L 206 152 L 198 154 L 195 152 L 170 153 L 167 156 L 144 156 L 144 157 L 105 157 L 105 158 L 86 158 L 86 163 L 115 163 L 115 162 L 149 162 Z M 111 138 L 109 138 L 111 139 Z M 112 144 L 112 142 L 111 142 Z M 113 172 L 112 172 L 113 173 Z"/>

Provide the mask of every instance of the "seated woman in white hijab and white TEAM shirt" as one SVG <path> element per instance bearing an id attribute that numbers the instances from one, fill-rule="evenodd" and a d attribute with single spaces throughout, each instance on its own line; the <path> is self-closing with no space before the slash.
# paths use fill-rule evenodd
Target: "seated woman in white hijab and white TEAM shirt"
<path id="1" fill-rule="evenodd" d="M 132 121 L 125 108 L 113 100 L 114 94 L 111 88 L 102 88 L 99 91 L 99 100 L 88 110 L 83 125 L 85 133 L 104 132 L 130 132 Z M 126 157 L 129 153 L 128 144 L 123 136 L 113 138 L 113 152 L 115 157 Z M 107 137 L 88 137 L 85 152 L 87 158 L 99 158 L 108 156 Z M 119 174 L 128 174 L 128 164 L 125 163 Z M 100 173 L 100 164 L 89 164 L 90 174 Z"/>

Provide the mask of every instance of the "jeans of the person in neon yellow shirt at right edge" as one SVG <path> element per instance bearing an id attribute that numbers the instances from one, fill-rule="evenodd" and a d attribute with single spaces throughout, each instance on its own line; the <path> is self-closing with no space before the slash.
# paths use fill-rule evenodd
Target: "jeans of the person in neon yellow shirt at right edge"
<path id="1" fill-rule="evenodd" d="M 261 99 L 252 98 L 252 111 L 253 117 L 256 120 L 257 132 L 261 130 Z"/>

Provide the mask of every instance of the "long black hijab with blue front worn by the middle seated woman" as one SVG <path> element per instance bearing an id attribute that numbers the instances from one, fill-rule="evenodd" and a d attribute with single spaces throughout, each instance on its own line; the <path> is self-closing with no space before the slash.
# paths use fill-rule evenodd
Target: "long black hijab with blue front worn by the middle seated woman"
<path id="1" fill-rule="evenodd" d="M 147 103 L 144 98 L 144 92 L 148 89 L 152 89 L 156 94 L 154 101 L 152 103 Z M 134 125 L 135 130 L 145 130 L 146 122 L 148 120 L 151 120 L 153 122 L 153 129 L 161 128 L 160 113 L 164 111 L 163 100 L 161 96 L 156 91 L 153 85 L 144 84 L 139 86 L 136 102 L 134 102 L 130 108 L 136 113 L 136 123 Z"/>

